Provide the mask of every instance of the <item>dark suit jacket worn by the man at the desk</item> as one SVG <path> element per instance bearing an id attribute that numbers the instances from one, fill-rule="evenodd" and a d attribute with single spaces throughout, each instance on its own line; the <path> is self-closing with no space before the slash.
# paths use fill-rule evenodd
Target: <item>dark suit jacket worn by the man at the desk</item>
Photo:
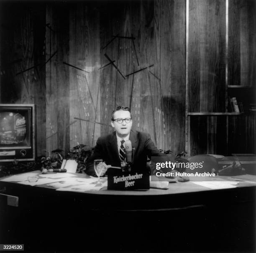
<path id="1" fill-rule="evenodd" d="M 129 140 L 131 140 L 133 147 L 133 165 L 132 172 L 140 171 L 144 173 L 150 173 L 150 169 L 147 169 L 147 156 L 165 156 L 159 152 L 154 142 L 151 140 L 150 135 L 138 131 L 131 130 Z M 120 158 L 117 145 L 116 133 L 102 136 L 98 138 L 94 153 L 87 159 L 86 173 L 88 175 L 95 176 L 94 160 L 103 159 L 107 165 L 120 167 Z"/>

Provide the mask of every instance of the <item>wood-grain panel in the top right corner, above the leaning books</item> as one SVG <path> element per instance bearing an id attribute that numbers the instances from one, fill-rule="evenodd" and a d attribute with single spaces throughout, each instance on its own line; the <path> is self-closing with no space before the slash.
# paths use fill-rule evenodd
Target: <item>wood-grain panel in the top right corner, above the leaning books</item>
<path id="1" fill-rule="evenodd" d="M 229 0 L 228 84 L 255 85 L 255 1 Z"/>

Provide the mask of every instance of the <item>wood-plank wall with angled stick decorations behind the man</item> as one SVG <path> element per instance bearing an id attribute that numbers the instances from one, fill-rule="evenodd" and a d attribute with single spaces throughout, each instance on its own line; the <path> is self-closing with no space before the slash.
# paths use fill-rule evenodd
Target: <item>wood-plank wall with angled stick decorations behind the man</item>
<path id="1" fill-rule="evenodd" d="M 133 129 L 150 133 L 158 148 L 184 151 L 186 1 L 42 5 L 41 13 L 31 15 L 41 8 L 36 3 L 20 3 L 21 9 L 17 3 L 2 4 L 2 24 L 12 26 L 1 33 L 1 66 L 22 59 L 2 76 L 1 103 L 37 105 L 38 155 L 95 145 L 112 131 L 117 105 L 131 106 Z M 38 35 L 28 32 L 32 27 Z M 134 40 L 115 38 L 106 46 L 115 35 Z M 125 78 L 113 65 L 100 69 L 109 63 L 105 54 Z M 125 76 L 141 68 L 146 69 Z"/>

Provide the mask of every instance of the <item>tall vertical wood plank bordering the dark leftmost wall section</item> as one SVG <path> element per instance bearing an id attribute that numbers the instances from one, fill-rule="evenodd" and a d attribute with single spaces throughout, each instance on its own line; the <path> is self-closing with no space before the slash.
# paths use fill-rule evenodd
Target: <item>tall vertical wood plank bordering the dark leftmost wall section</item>
<path id="1" fill-rule="evenodd" d="M 61 13 L 61 15 L 60 15 Z M 46 148 L 69 152 L 69 5 L 46 5 Z"/>

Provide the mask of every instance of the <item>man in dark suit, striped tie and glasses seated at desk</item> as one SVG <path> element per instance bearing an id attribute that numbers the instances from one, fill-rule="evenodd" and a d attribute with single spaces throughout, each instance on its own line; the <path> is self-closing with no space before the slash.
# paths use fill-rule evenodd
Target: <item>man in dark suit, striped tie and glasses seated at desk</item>
<path id="1" fill-rule="evenodd" d="M 87 160 L 86 173 L 88 175 L 95 176 L 94 160 L 96 159 L 103 159 L 109 166 L 123 167 L 122 165 L 125 164 L 124 142 L 126 140 L 131 140 L 133 147 L 131 172 L 150 173 L 150 168 L 146 166 L 147 157 L 164 156 L 165 160 L 174 161 L 159 152 L 149 134 L 131 130 L 132 123 L 130 108 L 118 106 L 113 111 L 111 125 L 115 132 L 98 138 L 94 153 Z"/>

